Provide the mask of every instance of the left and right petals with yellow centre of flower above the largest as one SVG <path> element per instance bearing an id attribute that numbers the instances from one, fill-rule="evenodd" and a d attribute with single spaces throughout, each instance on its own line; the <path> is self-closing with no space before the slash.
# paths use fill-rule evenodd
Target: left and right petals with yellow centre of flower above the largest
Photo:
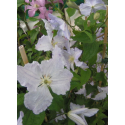
<path id="1" fill-rule="evenodd" d="M 38 43 L 35 45 L 35 49 L 38 51 L 49 51 L 55 48 L 57 45 L 59 48 L 63 49 L 63 47 L 67 47 L 68 40 L 62 36 L 56 35 L 55 37 L 51 36 L 42 36 L 39 38 Z"/>

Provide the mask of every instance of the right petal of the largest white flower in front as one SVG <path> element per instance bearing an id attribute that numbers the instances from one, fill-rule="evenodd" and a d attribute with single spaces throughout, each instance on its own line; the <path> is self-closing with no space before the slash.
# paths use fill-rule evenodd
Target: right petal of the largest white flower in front
<path id="1" fill-rule="evenodd" d="M 63 69 L 62 71 L 58 71 L 57 75 L 52 76 L 52 83 L 50 84 L 50 87 L 52 91 L 58 95 L 66 94 L 66 91 L 69 91 L 70 89 L 70 81 L 73 77 L 73 74 L 67 70 Z"/>

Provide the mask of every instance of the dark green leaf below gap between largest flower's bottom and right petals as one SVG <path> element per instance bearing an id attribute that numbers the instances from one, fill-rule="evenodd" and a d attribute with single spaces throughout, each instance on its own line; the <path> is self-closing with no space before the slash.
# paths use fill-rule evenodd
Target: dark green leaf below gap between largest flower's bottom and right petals
<path id="1" fill-rule="evenodd" d="M 61 108 L 64 106 L 64 100 L 62 98 L 62 95 L 57 95 L 50 91 L 52 96 L 53 96 L 53 101 L 52 104 L 49 106 L 49 110 L 54 110 L 54 111 L 60 111 Z"/>

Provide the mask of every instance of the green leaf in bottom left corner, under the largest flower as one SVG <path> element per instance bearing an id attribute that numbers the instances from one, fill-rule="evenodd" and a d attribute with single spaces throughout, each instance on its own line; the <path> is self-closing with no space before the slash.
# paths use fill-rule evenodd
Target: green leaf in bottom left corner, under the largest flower
<path id="1" fill-rule="evenodd" d="M 45 112 L 36 115 L 31 110 L 25 108 L 24 104 L 17 106 L 17 118 L 19 118 L 20 111 L 23 111 L 23 125 L 41 125 L 45 118 Z"/>

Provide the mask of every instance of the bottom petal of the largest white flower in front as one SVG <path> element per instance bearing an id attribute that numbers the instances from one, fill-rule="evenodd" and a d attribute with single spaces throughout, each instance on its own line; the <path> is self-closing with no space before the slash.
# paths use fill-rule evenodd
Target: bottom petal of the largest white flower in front
<path id="1" fill-rule="evenodd" d="M 28 92 L 24 96 L 24 105 L 26 108 L 33 111 L 34 114 L 39 114 L 47 109 L 52 103 L 51 96 L 47 86 L 38 87 L 37 91 Z"/>

